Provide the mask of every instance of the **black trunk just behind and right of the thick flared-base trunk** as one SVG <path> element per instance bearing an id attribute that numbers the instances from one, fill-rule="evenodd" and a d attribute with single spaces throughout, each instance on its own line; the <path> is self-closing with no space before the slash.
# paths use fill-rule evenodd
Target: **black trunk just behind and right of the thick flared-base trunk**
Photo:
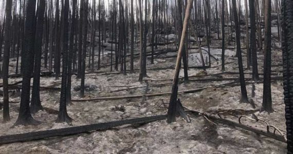
<path id="1" fill-rule="evenodd" d="M 34 73 L 32 94 L 30 102 L 30 112 L 36 113 L 42 110 L 42 104 L 40 100 L 40 77 L 41 77 L 41 56 L 42 56 L 42 42 L 43 42 L 43 29 L 44 29 L 44 12 L 46 7 L 46 1 L 40 0 L 37 14 L 36 23 L 36 35 L 34 42 Z"/>

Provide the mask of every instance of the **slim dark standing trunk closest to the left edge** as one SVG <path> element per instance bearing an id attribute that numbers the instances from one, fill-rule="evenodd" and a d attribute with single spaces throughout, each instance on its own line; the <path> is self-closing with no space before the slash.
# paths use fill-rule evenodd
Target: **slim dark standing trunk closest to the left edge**
<path id="1" fill-rule="evenodd" d="M 4 2 L 3 2 L 4 3 Z M 7 122 L 10 120 L 9 115 L 9 92 L 8 92 L 8 73 L 9 73 L 9 52 L 10 52 L 10 31 L 11 31 L 11 8 L 12 0 L 6 1 L 5 6 L 5 25 L 4 25 L 4 54 L 3 54 L 3 120 Z M 2 46 L 2 44 L 0 44 Z M 0 52 L 2 52 L 0 50 Z M 0 67 L 1 70 L 1 67 Z"/>

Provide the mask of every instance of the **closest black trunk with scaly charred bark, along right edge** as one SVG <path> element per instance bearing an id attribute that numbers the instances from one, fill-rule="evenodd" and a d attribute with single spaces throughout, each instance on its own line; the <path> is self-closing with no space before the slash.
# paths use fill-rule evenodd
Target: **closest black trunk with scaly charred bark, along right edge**
<path id="1" fill-rule="evenodd" d="M 287 130 L 287 153 L 293 153 L 293 1 L 282 0 L 282 50 L 283 50 L 283 85 L 285 101 L 285 118 Z"/>

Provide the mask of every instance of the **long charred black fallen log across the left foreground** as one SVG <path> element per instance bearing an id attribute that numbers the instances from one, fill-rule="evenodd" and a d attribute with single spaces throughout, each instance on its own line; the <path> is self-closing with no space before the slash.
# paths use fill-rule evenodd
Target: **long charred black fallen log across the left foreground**
<path id="1" fill-rule="evenodd" d="M 120 120 L 120 121 L 90 124 L 90 125 L 68 127 L 68 128 L 61 128 L 61 129 L 51 129 L 51 130 L 44 130 L 44 131 L 12 134 L 8 136 L 0 137 L 0 145 L 7 144 L 7 143 L 14 143 L 14 142 L 27 142 L 27 141 L 33 141 L 33 140 L 40 140 L 40 139 L 46 139 L 51 137 L 69 136 L 72 134 L 85 133 L 89 131 L 106 130 L 106 129 L 111 129 L 111 128 L 122 126 L 122 125 L 147 124 L 147 123 L 158 121 L 158 120 L 164 120 L 166 118 L 167 118 L 167 115 L 155 115 L 152 117 L 145 117 L 145 118 L 135 118 L 135 119 L 129 119 L 129 120 Z"/>

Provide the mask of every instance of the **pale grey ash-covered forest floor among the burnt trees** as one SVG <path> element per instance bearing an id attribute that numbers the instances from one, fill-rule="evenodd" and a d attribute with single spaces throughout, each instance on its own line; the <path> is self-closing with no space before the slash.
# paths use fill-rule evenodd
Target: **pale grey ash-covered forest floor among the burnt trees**
<path id="1" fill-rule="evenodd" d="M 243 39 L 242 39 L 243 40 Z M 220 40 L 212 40 L 212 47 L 221 47 Z M 170 45 L 170 48 L 175 48 Z M 193 46 L 191 46 L 193 47 Z M 228 47 L 234 47 L 228 46 Z M 242 47 L 245 45 L 242 44 Z M 167 47 L 159 46 L 166 49 Z M 148 51 L 150 47 L 148 47 Z M 246 50 L 243 51 L 243 63 L 246 68 Z M 138 48 L 135 52 L 138 52 Z M 189 50 L 189 66 L 201 66 L 197 50 Z M 176 53 L 176 52 L 175 52 Z M 154 68 L 174 67 L 176 58 L 162 58 L 163 56 L 172 56 L 173 53 L 160 55 L 160 59 L 155 59 L 155 64 L 150 64 L 148 59 L 148 76 L 150 80 L 146 89 L 145 82 L 138 82 L 138 71 L 124 75 L 120 71 L 110 73 L 109 67 L 102 68 L 99 71 L 108 71 L 108 73 L 88 73 L 85 83 L 97 86 L 95 90 L 86 91 L 84 99 L 125 96 L 147 93 L 171 92 L 174 69 L 155 70 Z M 193 55 L 194 54 L 194 55 Z M 211 49 L 211 54 L 218 61 L 211 61 L 211 68 L 206 72 L 201 69 L 190 68 L 189 76 L 221 73 L 221 54 L 222 49 Z M 176 54 L 173 54 L 176 55 Z M 226 50 L 226 71 L 238 72 L 237 57 L 234 50 Z M 205 54 L 207 56 L 207 54 Z M 97 56 L 96 56 L 97 57 Z M 206 58 L 205 58 L 206 60 Z M 108 56 L 105 56 L 105 61 Z M 104 62 L 105 62 L 104 61 Z M 97 62 L 97 61 L 96 61 Z M 272 50 L 272 70 L 277 73 L 272 76 L 282 76 L 282 52 L 281 50 Z M 13 66 L 15 62 L 11 62 Z M 127 62 L 127 65 L 129 62 Z M 259 73 L 263 73 L 263 52 L 258 52 Z M 138 69 L 138 58 L 135 59 L 135 68 Z M 15 67 L 11 67 L 15 68 Z M 127 66 L 127 68 L 129 68 Z M 46 71 L 45 68 L 42 68 Z M 251 72 L 245 70 L 245 72 Z M 12 73 L 12 70 L 11 70 Z M 180 71 L 180 77 L 183 77 L 183 69 Z M 207 81 L 196 82 L 194 79 L 218 79 L 218 78 L 237 78 L 238 74 L 207 75 L 202 78 L 190 78 L 189 84 L 180 82 L 178 89 L 188 90 L 202 87 L 209 87 L 205 90 L 194 93 L 179 93 L 178 98 L 184 106 L 205 112 L 222 112 L 227 110 L 241 111 L 242 115 L 251 116 L 252 113 L 259 119 L 267 121 L 269 124 L 285 130 L 285 116 L 283 103 L 283 83 L 282 80 L 273 81 L 272 105 L 274 112 L 259 112 L 263 98 L 263 84 L 255 83 L 255 96 L 252 97 L 252 85 L 246 86 L 248 98 L 255 103 L 255 108 L 251 104 L 241 103 L 240 86 L 215 87 L 232 81 Z M 251 78 L 250 74 L 245 75 Z M 261 75 L 262 77 L 262 75 Z M 168 81 L 158 81 L 170 79 Z M 11 78 L 9 83 L 21 81 L 21 78 Z M 32 82 L 32 80 L 31 80 Z M 247 83 L 252 83 L 248 81 Z M 80 84 L 76 76 L 72 76 L 72 99 L 80 99 L 79 91 L 74 87 Z M 161 84 L 161 85 L 159 85 Z M 119 87 L 118 87 L 119 86 Z M 54 77 L 42 77 L 41 87 L 61 87 L 61 78 L 55 80 Z M 129 89 L 115 91 L 119 89 Z M 144 97 L 137 99 L 120 99 L 106 101 L 88 101 L 73 102 L 73 105 L 67 107 L 69 116 L 74 119 L 72 126 L 94 124 L 101 122 L 117 121 L 122 119 L 131 119 L 159 115 L 167 113 L 170 94 L 157 97 Z M 71 127 L 67 124 L 59 124 L 54 121 L 57 119 L 59 109 L 60 91 L 42 90 L 41 101 L 44 111 L 39 111 L 33 117 L 43 123 L 38 126 L 17 126 L 11 128 L 17 119 L 19 104 L 10 104 L 11 121 L 0 125 L 0 136 L 16 133 L 24 133 L 39 130 L 57 129 Z M 2 98 L 0 99 L 2 101 Z M 11 94 L 10 101 L 20 101 L 20 94 Z M 162 102 L 164 102 L 162 104 Z M 165 106 L 164 106 L 165 105 Z M 3 110 L 0 110 L 3 114 Z M 237 127 L 218 123 L 215 125 L 204 117 L 195 117 L 189 114 L 191 123 L 184 119 L 177 118 L 177 122 L 167 124 L 166 120 L 156 121 L 142 126 L 122 126 L 104 131 L 93 131 L 89 133 L 77 134 L 67 137 L 58 137 L 31 141 L 25 143 L 12 143 L 0 146 L 0 153 L 286 153 L 286 144 L 260 136 L 254 132 L 246 131 Z M 237 121 L 230 115 L 223 115 L 224 118 Z M 264 123 L 255 123 L 254 121 L 243 119 L 242 123 L 266 129 Z"/>

